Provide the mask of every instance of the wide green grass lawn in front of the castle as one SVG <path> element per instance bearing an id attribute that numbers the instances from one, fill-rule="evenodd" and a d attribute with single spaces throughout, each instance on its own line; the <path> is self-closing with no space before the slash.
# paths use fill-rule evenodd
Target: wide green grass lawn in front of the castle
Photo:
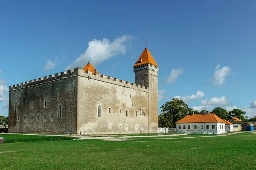
<path id="1" fill-rule="evenodd" d="M 0 134 L 2 136 L 6 140 L 13 137 Z M 201 134 L 182 137 L 189 136 Z M 0 145 L 0 167 L 13 170 L 253 170 L 255 141 L 256 134 L 238 133 L 209 138 L 147 137 L 121 142 L 97 139 L 13 142 Z M 7 152 L 1 153 L 3 151 Z"/>

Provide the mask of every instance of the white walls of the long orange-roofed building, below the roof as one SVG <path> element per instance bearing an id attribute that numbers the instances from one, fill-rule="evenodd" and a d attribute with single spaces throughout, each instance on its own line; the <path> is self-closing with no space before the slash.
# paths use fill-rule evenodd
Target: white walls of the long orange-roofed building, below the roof
<path id="1" fill-rule="evenodd" d="M 214 129 L 212 128 L 214 125 Z M 179 129 L 180 126 L 180 129 Z M 189 127 L 190 126 L 190 127 Z M 196 128 L 195 128 L 196 126 Z M 225 123 L 176 123 L 177 133 L 221 134 L 226 133 Z"/>

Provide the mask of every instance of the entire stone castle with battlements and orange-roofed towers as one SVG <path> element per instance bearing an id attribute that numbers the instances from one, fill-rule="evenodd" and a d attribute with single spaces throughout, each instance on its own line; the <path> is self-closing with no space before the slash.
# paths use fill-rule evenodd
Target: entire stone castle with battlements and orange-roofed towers
<path id="1" fill-rule="evenodd" d="M 158 133 L 158 65 L 147 48 L 135 83 L 99 74 L 88 62 L 9 87 L 9 132 Z"/>

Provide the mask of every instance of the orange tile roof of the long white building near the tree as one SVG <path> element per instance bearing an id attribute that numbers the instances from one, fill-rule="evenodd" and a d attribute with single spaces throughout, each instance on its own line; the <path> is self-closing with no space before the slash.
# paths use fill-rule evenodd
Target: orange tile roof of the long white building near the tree
<path id="1" fill-rule="evenodd" d="M 180 119 L 179 121 L 177 121 L 176 123 L 204 123 L 204 122 L 226 123 L 214 113 L 187 115 L 182 119 Z"/>

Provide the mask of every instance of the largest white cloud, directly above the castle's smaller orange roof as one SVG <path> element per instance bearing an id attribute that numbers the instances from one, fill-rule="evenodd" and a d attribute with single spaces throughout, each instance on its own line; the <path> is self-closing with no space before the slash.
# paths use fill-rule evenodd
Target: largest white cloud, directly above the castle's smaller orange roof
<path id="1" fill-rule="evenodd" d="M 125 54 L 127 48 L 131 48 L 131 45 L 128 43 L 131 40 L 131 35 L 124 35 L 114 39 L 112 42 L 107 38 L 103 38 L 103 40 L 92 40 L 88 42 L 86 51 L 83 54 L 80 54 L 74 62 L 67 66 L 66 70 L 84 67 L 88 62 L 89 56 L 90 62 L 96 67 L 96 65 L 111 57 Z"/>

